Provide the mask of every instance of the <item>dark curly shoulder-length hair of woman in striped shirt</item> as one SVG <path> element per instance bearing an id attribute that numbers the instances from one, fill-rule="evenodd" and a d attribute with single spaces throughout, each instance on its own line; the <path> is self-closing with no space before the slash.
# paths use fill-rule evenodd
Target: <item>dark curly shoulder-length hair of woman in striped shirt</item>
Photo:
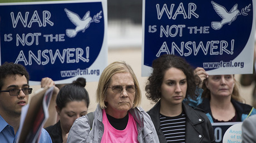
<path id="1" fill-rule="evenodd" d="M 163 83 L 166 70 L 170 68 L 180 69 L 186 75 L 188 82 L 186 98 L 188 98 L 188 95 L 191 99 L 196 99 L 198 96 L 196 86 L 200 84 L 200 78 L 194 75 L 193 68 L 184 58 L 177 55 L 164 54 L 152 62 L 152 68 L 153 72 L 147 79 L 148 81 L 145 87 L 147 99 L 154 102 L 161 99 L 161 84 Z"/>

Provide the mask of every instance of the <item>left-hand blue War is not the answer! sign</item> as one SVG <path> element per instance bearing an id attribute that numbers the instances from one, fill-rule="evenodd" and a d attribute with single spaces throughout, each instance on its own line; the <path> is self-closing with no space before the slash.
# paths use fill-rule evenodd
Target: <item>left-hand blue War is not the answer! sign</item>
<path id="1" fill-rule="evenodd" d="M 107 65 L 106 0 L 2 3 L 0 17 L 1 64 L 24 65 L 31 84 L 99 80 Z"/>

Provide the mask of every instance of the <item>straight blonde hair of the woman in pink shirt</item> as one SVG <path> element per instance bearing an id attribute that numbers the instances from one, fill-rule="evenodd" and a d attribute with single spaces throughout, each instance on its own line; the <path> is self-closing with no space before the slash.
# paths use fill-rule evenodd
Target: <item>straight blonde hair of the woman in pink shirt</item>
<path id="1" fill-rule="evenodd" d="M 97 93 L 96 93 L 96 100 L 97 100 L 97 103 L 100 104 L 101 109 L 107 108 L 105 104 L 107 87 L 110 84 L 111 77 L 116 73 L 131 74 L 132 79 L 134 80 L 135 88 L 136 88 L 134 105 L 132 106 L 132 108 L 139 106 L 141 102 L 141 91 L 140 91 L 139 82 L 136 78 L 134 71 L 132 70 L 130 65 L 126 64 L 125 62 L 113 62 L 103 70 L 100 76 Z"/>

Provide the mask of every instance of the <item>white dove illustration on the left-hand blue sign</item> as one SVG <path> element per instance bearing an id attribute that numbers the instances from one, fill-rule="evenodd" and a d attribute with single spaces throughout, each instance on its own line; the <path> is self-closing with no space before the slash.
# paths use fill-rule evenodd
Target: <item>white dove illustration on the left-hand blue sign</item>
<path id="1" fill-rule="evenodd" d="M 75 29 L 66 29 L 66 34 L 68 37 L 73 38 L 76 36 L 78 32 L 82 30 L 82 32 L 85 32 L 85 29 L 87 29 L 90 26 L 90 23 L 93 22 L 92 18 L 90 17 L 90 11 L 87 11 L 85 16 L 83 16 L 83 19 L 81 19 L 78 14 L 71 12 L 68 9 L 64 9 L 67 13 L 67 17 L 70 19 L 70 21 L 76 25 Z"/>

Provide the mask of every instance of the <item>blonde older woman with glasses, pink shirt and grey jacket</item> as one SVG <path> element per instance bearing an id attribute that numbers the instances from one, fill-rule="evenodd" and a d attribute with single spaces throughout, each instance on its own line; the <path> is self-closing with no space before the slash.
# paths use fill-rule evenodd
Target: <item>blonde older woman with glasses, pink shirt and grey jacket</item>
<path id="1" fill-rule="evenodd" d="M 130 65 L 111 63 L 99 79 L 96 110 L 74 122 L 67 142 L 159 142 L 150 116 L 139 108 L 140 101 L 139 83 Z"/>

